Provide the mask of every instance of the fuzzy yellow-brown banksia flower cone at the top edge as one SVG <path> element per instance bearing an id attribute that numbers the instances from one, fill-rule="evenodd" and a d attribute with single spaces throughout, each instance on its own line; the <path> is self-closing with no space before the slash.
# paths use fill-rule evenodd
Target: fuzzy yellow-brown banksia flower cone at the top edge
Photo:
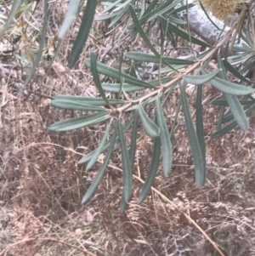
<path id="1" fill-rule="evenodd" d="M 244 0 L 198 0 L 204 9 L 211 11 L 219 20 L 225 20 L 235 14 L 238 9 L 246 7 Z"/>

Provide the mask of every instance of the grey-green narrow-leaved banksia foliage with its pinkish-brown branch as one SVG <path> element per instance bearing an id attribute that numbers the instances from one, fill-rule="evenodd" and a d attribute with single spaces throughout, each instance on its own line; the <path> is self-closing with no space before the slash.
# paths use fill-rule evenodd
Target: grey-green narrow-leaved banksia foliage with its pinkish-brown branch
<path id="1" fill-rule="evenodd" d="M 3 27 L 3 31 L 11 23 L 14 12 L 19 9 L 20 3 L 20 1 L 14 1 L 13 9 L 10 12 L 6 26 Z M 48 2 L 45 1 L 44 3 L 45 17 L 47 17 Z M 123 32 L 120 37 L 122 38 L 116 38 L 116 40 L 124 40 L 124 37 L 131 37 L 137 40 L 139 36 L 140 40 L 143 40 L 144 44 L 147 45 L 150 54 L 137 51 L 130 52 L 125 48 L 121 63 L 125 63 L 126 68 L 129 65 L 130 68 L 128 71 L 124 71 L 122 66 L 116 69 L 107 64 L 100 63 L 97 61 L 96 54 L 92 53 L 90 59 L 86 60 L 84 65 L 91 69 L 95 85 L 101 97 L 99 99 L 91 99 L 81 96 L 57 95 L 52 100 L 54 107 L 88 112 L 83 117 L 56 122 L 50 126 L 51 130 L 67 131 L 96 125 L 99 122 L 108 123 L 105 128 L 105 136 L 99 143 L 98 148 L 88 153 L 87 156 L 83 156 L 79 162 L 82 164 L 88 163 L 87 169 L 92 168 L 97 157 L 107 151 L 105 160 L 101 168 L 99 168 L 99 172 L 92 185 L 83 197 L 82 202 L 88 202 L 89 198 L 94 195 L 110 162 L 111 153 L 116 149 L 114 145 L 116 142 L 119 142 L 118 145 L 122 153 L 123 172 L 121 210 L 124 211 L 127 208 L 128 200 L 132 194 L 132 175 L 139 121 L 144 127 L 144 133 L 150 136 L 153 142 L 150 168 L 139 196 L 139 202 L 143 202 L 153 185 L 160 161 L 162 161 L 163 165 L 163 174 L 165 176 L 170 174 L 173 162 L 172 137 L 180 122 L 177 118 L 180 116 L 178 111 L 181 110 L 184 113 L 184 122 L 195 164 L 195 183 L 199 187 L 204 185 L 206 182 L 206 146 L 203 128 L 202 95 L 207 90 L 209 83 L 223 93 L 222 99 L 212 102 L 214 105 L 220 105 L 221 108 L 218 121 L 214 122 L 216 131 L 212 134 L 212 138 L 223 136 L 236 126 L 245 131 L 249 128 L 248 117 L 252 115 L 252 111 L 255 109 L 255 100 L 252 97 L 254 82 L 246 77 L 246 72 L 254 65 L 255 51 L 253 48 L 254 38 L 248 32 L 251 30 L 247 26 L 253 26 L 253 24 L 249 24 L 248 21 L 242 24 L 240 35 L 244 43 L 238 46 L 234 45 L 230 52 L 229 44 L 218 42 L 218 46 L 215 47 L 189 34 L 187 29 L 189 21 L 186 22 L 178 16 L 180 12 L 187 8 L 192 8 L 192 4 L 186 7 L 185 3 L 186 1 L 183 0 L 110 0 L 102 3 L 105 9 L 97 17 L 97 20 L 99 22 L 110 20 L 111 31 L 115 31 L 121 24 Z M 82 24 L 77 38 L 74 38 L 75 42 L 71 49 L 70 67 L 73 67 L 79 61 L 80 54 L 87 42 L 90 28 L 93 26 L 97 4 L 98 1 L 88 0 L 83 10 Z M 79 9 L 80 1 L 70 0 L 63 26 L 59 31 L 59 45 L 64 40 L 65 33 L 71 27 Z M 42 29 L 42 39 L 45 37 L 45 20 L 46 18 L 44 19 Z M 122 24 L 122 22 L 124 23 Z M 160 34 L 160 50 L 157 50 L 155 45 L 150 42 L 150 37 L 148 36 L 153 27 L 156 27 L 155 31 L 158 31 Z M 0 35 L 2 34 L 3 32 L 0 33 Z M 173 47 L 175 47 L 177 37 L 183 38 L 186 45 L 188 45 L 190 53 L 194 52 L 192 48 L 194 48 L 195 44 L 207 47 L 207 51 L 191 56 L 188 60 L 169 58 L 169 56 L 164 54 L 164 44 L 166 41 L 170 41 Z M 231 38 L 229 36 L 229 38 L 225 39 L 224 42 L 227 42 Z M 44 40 L 42 41 L 40 48 L 44 44 Z M 221 56 L 218 56 L 218 69 L 211 71 L 208 63 L 220 49 L 225 52 L 224 60 L 221 59 Z M 153 72 L 157 76 L 155 80 L 148 81 L 141 78 L 145 71 L 145 65 L 148 63 L 156 63 L 158 66 L 158 70 Z M 170 71 L 175 71 L 173 77 L 165 75 Z M 227 72 L 231 73 L 235 79 L 229 81 Z M 102 75 L 107 78 L 105 79 L 106 82 L 101 83 L 100 77 Z M 31 76 L 28 79 L 30 81 Z M 29 82 L 28 79 L 26 84 Z M 187 83 L 195 85 L 195 120 L 190 115 L 190 99 L 187 99 L 185 94 Z M 176 109 L 176 120 L 172 123 L 169 122 L 165 115 L 163 106 L 168 98 L 171 99 L 173 89 L 178 87 L 180 87 L 181 94 Z M 108 99 L 105 92 L 110 92 L 114 99 Z M 132 97 L 133 94 L 130 94 L 131 92 L 135 92 L 137 96 Z M 155 117 L 151 118 L 150 113 L 146 112 L 146 105 L 148 104 L 155 105 Z M 179 107 L 180 105 L 182 105 L 182 108 Z M 122 117 L 126 117 L 125 113 L 127 111 L 131 112 L 131 115 L 129 115 L 128 122 L 125 122 L 127 118 Z M 126 136 L 130 128 L 132 128 L 133 132 L 129 145 L 127 144 Z"/>

